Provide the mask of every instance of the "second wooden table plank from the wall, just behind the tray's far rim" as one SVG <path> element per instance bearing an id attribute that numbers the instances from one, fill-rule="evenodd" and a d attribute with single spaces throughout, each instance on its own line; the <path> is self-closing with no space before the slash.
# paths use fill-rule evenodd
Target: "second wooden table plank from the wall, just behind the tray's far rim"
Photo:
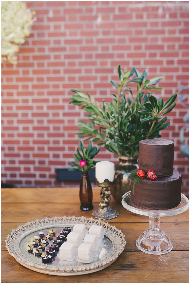
<path id="1" fill-rule="evenodd" d="M 94 209 L 98 208 L 98 203 L 93 203 Z M 126 210 L 121 204 L 115 203 L 112 207 L 119 212 L 119 216 L 115 219 L 109 220 L 109 223 L 126 223 L 126 222 L 149 222 L 148 216 L 142 216 L 135 213 L 132 213 Z M 91 218 L 92 212 L 80 210 L 80 203 L 74 204 L 65 204 L 65 203 L 2 203 L 1 204 L 1 220 L 2 222 L 19 222 L 26 223 L 28 221 L 34 221 L 36 219 L 40 220 L 45 217 L 54 217 L 54 216 L 84 216 L 86 218 Z M 161 217 L 160 222 L 188 222 L 189 215 L 188 210 L 182 214 L 170 216 L 170 217 Z"/>

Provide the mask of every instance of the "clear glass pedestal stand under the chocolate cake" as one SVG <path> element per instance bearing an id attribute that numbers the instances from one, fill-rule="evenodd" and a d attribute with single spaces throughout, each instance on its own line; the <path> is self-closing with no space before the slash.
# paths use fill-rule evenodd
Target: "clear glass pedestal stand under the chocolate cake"
<path id="1" fill-rule="evenodd" d="M 149 254 L 165 254 L 173 248 L 173 243 L 160 228 L 160 217 L 172 216 L 183 213 L 189 207 L 188 198 L 181 193 L 181 203 L 179 206 L 168 210 L 149 210 L 133 205 L 130 201 L 131 191 L 126 192 L 122 197 L 122 205 L 127 210 L 149 216 L 149 228 L 146 229 L 136 240 L 139 250 Z"/>

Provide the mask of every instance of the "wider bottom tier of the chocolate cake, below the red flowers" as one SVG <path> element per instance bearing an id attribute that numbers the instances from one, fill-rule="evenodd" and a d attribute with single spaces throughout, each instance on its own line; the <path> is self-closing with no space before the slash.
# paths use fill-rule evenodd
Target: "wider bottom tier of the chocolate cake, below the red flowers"
<path id="1" fill-rule="evenodd" d="M 177 207 L 181 202 L 181 174 L 174 171 L 171 176 L 154 180 L 142 178 L 131 181 L 131 203 L 150 210 L 166 210 Z"/>

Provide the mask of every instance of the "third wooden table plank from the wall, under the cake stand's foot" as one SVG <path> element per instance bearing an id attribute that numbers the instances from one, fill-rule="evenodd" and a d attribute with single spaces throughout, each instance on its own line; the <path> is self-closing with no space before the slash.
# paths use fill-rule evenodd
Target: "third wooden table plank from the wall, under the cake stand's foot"
<path id="1" fill-rule="evenodd" d="M 5 239 L 11 233 L 12 229 L 16 229 L 18 223 L 2 223 L 1 225 L 1 249 L 5 248 Z M 135 245 L 139 235 L 148 228 L 148 223 L 112 223 L 117 229 L 122 230 L 126 236 L 126 251 L 139 251 Z M 162 223 L 161 229 L 168 235 L 174 244 L 173 250 L 189 250 L 189 226 L 188 223 Z"/>

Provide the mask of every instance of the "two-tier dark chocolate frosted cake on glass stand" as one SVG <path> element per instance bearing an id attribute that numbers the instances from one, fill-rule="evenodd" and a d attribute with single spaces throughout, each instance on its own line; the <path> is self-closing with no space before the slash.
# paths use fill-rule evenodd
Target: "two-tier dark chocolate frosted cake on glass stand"
<path id="1" fill-rule="evenodd" d="M 131 203 L 151 210 L 174 208 L 181 201 L 181 174 L 173 170 L 174 142 L 167 139 L 146 139 L 139 143 L 139 170 L 145 178 L 131 179 Z M 157 178 L 147 178 L 153 170 Z M 154 176 L 155 176 L 154 175 Z"/>

